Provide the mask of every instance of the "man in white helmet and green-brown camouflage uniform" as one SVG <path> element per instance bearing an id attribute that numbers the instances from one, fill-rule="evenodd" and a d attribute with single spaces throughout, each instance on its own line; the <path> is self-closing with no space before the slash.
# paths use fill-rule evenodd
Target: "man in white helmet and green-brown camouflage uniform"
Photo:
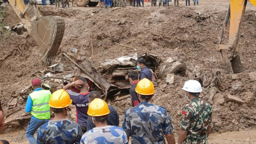
<path id="1" fill-rule="evenodd" d="M 199 98 L 201 84 L 196 80 L 189 80 L 182 89 L 190 102 L 183 107 L 178 144 L 208 144 L 212 108 L 208 102 Z"/>

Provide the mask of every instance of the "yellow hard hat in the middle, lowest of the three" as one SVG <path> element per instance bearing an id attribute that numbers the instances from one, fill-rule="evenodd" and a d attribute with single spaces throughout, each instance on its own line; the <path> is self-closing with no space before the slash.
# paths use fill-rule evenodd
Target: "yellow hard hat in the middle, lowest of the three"
<path id="1" fill-rule="evenodd" d="M 101 99 L 94 99 L 88 108 L 87 114 L 92 117 L 104 116 L 110 113 L 108 104 Z"/>

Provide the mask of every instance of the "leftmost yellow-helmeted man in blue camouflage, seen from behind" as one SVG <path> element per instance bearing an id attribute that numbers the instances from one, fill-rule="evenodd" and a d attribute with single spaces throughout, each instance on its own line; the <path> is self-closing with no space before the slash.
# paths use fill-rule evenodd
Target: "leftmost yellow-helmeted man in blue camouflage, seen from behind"
<path id="1" fill-rule="evenodd" d="M 42 125 L 37 133 L 37 144 L 80 144 L 81 127 L 66 119 L 69 105 L 72 103 L 64 90 L 55 91 L 49 101 L 54 112 L 54 119 Z"/>

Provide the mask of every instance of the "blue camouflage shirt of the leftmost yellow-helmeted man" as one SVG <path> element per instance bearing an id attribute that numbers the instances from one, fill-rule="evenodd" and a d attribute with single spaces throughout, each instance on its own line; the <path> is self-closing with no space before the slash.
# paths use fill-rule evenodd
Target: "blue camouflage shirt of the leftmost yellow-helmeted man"
<path id="1" fill-rule="evenodd" d="M 50 120 L 37 133 L 37 144 L 80 144 L 81 127 L 68 119 Z M 63 143 L 65 142 L 65 143 Z"/>

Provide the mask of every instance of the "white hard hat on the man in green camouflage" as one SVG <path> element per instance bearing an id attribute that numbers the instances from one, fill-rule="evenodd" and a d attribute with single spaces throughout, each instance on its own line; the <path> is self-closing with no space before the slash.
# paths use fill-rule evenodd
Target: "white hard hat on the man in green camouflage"
<path id="1" fill-rule="evenodd" d="M 191 93 L 200 93 L 202 91 L 201 84 L 196 80 L 186 81 L 182 89 Z"/>

